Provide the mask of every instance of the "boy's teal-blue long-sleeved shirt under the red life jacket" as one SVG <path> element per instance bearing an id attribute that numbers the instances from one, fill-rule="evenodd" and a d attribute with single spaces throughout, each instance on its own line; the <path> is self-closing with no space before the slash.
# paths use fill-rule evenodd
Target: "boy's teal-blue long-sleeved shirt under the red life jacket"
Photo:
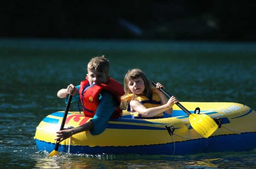
<path id="1" fill-rule="evenodd" d="M 80 85 L 76 86 L 78 90 L 80 89 Z M 78 101 L 80 99 L 79 95 L 74 95 L 72 98 L 73 101 Z M 102 90 L 99 96 L 100 104 L 96 110 L 95 115 L 90 120 L 93 122 L 93 129 L 90 130 L 92 135 L 98 135 L 106 130 L 106 127 L 109 122 L 109 117 L 115 111 L 116 102 L 114 97 L 109 91 Z M 66 97 L 67 102 L 67 97 Z"/>

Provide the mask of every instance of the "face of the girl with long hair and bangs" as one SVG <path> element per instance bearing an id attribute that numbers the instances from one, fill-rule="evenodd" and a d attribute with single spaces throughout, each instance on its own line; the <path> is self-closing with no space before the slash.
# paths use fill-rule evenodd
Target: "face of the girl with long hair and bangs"
<path id="1" fill-rule="evenodd" d="M 129 80 L 128 87 L 133 94 L 142 94 L 145 90 L 145 85 L 142 78 L 135 78 L 133 80 Z"/>

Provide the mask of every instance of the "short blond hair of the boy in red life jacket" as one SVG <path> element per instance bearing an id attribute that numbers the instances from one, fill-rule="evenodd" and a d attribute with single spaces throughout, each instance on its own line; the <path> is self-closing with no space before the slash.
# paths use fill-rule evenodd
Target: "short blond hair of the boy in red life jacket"
<path id="1" fill-rule="evenodd" d="M 104 72 L 106 76 L 109 76 L 109 69 L 110 69 L 109 61 L 105 58 L 104 55 L 94 57 L 89 61 L 87 65 L 88 72 L 91 71 L 92 69 L 95 69 L 97 72 Z"/>

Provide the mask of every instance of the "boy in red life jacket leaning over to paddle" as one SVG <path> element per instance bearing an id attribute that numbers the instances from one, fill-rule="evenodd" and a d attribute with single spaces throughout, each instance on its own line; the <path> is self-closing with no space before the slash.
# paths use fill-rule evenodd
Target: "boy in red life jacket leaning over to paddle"
<path id="1" fill-rule="evenodd" d="M 119 105 L 124 89 L 121 83 L 110 78 L 109 69 L 109 61 L 104 55 L 92 58 L 87 65 L 88 74 L 85 81 L 78 86 L 70 84 L 67 89 L 58 91 L 57 96 L 60 98 L 66 97 L 67 94 L 75 95 L 72 101 L 80 99 L 84 115 L 92 117 L 84 125 L 58 131 L 55 138 L 55 140 L 60 139 L 58 143 L 86 130 L 90 130 L 92 135 L 101 134 L 106 129 L 110 117 L 122 116 Z"/>

